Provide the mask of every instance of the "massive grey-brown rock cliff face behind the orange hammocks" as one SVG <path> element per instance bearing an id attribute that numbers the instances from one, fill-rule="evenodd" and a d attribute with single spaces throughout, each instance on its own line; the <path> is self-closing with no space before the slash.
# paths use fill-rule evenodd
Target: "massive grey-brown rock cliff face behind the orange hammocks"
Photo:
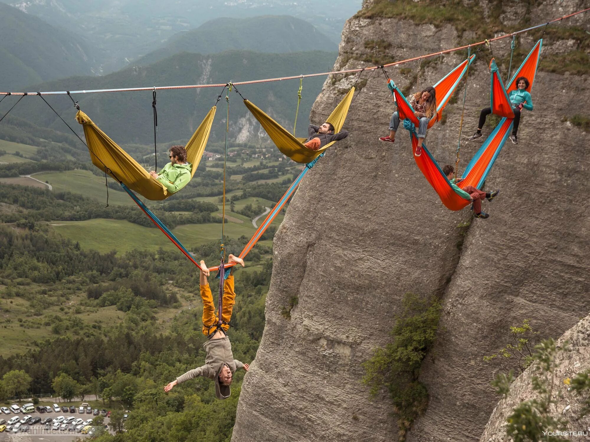
<path id="1" fill-rule="evenodd" d="M 537 3 L 532 24 L 584 2 Z M 506 17 L 513 14 L 507 10 Z M 584 20 L 578 23 L 587 27 Z M 359 61 L 371 55 L 369 40 L 385 42 L 379 43 L 382 57 L 391 61 L 473 38 L 466 32 L 460 39 L 451 25 L 352 18 L 336 67 L 375 65 Z M 526 50 L 533 43 L 527 35 L 520 39 Z M 506 55 L 509 45 L 508 39 L 497 43 L 494 55 Z M 465 57 L 455 52 L 423 62 L 418 83 L 434 84 Z M 477 57 L 460 169 L 481 144 L 466 138 L 489 105 L 489 52 Z M 408 67 L 414 71 L 389 68 L 389 75 L 414 90 L 417 64 L 400 66 Z M 321 123 L 355 79 L 329 78 L 311 121 Z M 587 76 L 537 74 L 535 110 L 522 118 L 520 143 L 508 142 L 486 183 L 501 189 L 497 199 L 484 202 L 491 216 L 473 220 L 464 234 L 458 225 L 471 220 L 470 212 L 442 206 L 415 165 L 405 130 L 395 144 L 378 141 L 388 133 L 394 105 L 375 72 L 350 108 L 345 128 L 352 134 L 307 174 L 276 234 L 266 328 L 242 386 L 232 441 L 395 440 L 389 398 L 384 392 L 371 399 L 360 364 L 391 340 L 406 292 L 437 295 L 444 305 L 437 342 L 422 365 L 428 409 L 408 440 L 478 440 L 497 403 L 489 385 L 494 367 L 483 356 L 503 347 L 509 326 L 522 319 L 556 336 L 590 308 L 588 134 L 562 122 L 587 113 L 589 99 Z M 441 165 L 454 163 L 461 100 L 445 113 L 446 123 L 437 123 L 426 141 Z"/>

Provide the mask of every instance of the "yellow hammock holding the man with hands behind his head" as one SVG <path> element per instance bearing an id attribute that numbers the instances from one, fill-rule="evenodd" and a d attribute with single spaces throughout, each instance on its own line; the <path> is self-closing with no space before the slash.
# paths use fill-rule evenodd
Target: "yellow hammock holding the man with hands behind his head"
<path id="1" fill-rule="evenodd" d="M 342 129 L 342 126 L 344 126 L 344 120 L 346 120 L 346 114 L 348 114 L 348 108 L 350 107 L 350 102 L 352 101 L 352 95 L 354 93 L 355 88 L 353 87 L 348 91 L 348 94 L 342 98 L 340 104 L 336 106 L 335 110 L 332 111 L 326 120 L 327 123 L 332 123 L 335 132 L 339 132 L 340 129 Z M 324 150 L 336 143 L 336 141 L 332 141 L 332 143 L 328 143 L 326 146 L 322 147 L 322 149 L 318 150 L 308 149 L 303 146 L 303 143 L 307 138 L 294 137 L 288 130 L 281 127 L 281 125 L 274 121 L 273 118 L 269 117 L 250 101 L 244 100 L 244 104 L 253 116 L 260 121 L 261 126 L 266 130 L 266 133 L 270 139 L 273 140 L 273 143 L 277 145 L 278 150 L 283 152 L 291 160 L 297 161 L 297 163 L 307 164 L 310 161 L 313 161 L 319 157 Z M 322 123 L 324 123 L 324 121 L 322 121 Z"/>

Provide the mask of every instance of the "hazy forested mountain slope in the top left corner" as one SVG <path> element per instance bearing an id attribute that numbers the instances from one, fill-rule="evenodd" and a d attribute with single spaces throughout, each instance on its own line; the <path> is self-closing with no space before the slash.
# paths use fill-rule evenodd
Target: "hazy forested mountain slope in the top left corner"
<path id="1" fill-rule="evenodd" d="M 101 52 L 86 38 L 0 3 L 0 78 L 3 91 L 93 74 Z"/>

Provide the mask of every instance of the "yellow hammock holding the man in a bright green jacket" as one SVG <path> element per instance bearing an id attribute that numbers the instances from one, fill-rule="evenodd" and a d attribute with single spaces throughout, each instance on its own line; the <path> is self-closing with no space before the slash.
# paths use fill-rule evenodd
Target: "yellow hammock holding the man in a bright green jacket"
<path id="1" fill-rule="evenodd" d="M 203 156 L 216 109 L 217 107 L 214 106 L 209 110 L 205 119 L 186 143 L 186 161 L 192 163 L 191 179 Z M 86 136 L 86 144 L 94 166 L 102 171 L 106 169 L 106 173 L 114 179 L 123 182 L 129 189 L 135 190 L 149 200 L 165 200 L 172 195 L 162 183 L 153 179 L 148 171 L 101 131 L 85 113 L 78 111 L 76 120 L 84 126 L 84 136 Z"/>

